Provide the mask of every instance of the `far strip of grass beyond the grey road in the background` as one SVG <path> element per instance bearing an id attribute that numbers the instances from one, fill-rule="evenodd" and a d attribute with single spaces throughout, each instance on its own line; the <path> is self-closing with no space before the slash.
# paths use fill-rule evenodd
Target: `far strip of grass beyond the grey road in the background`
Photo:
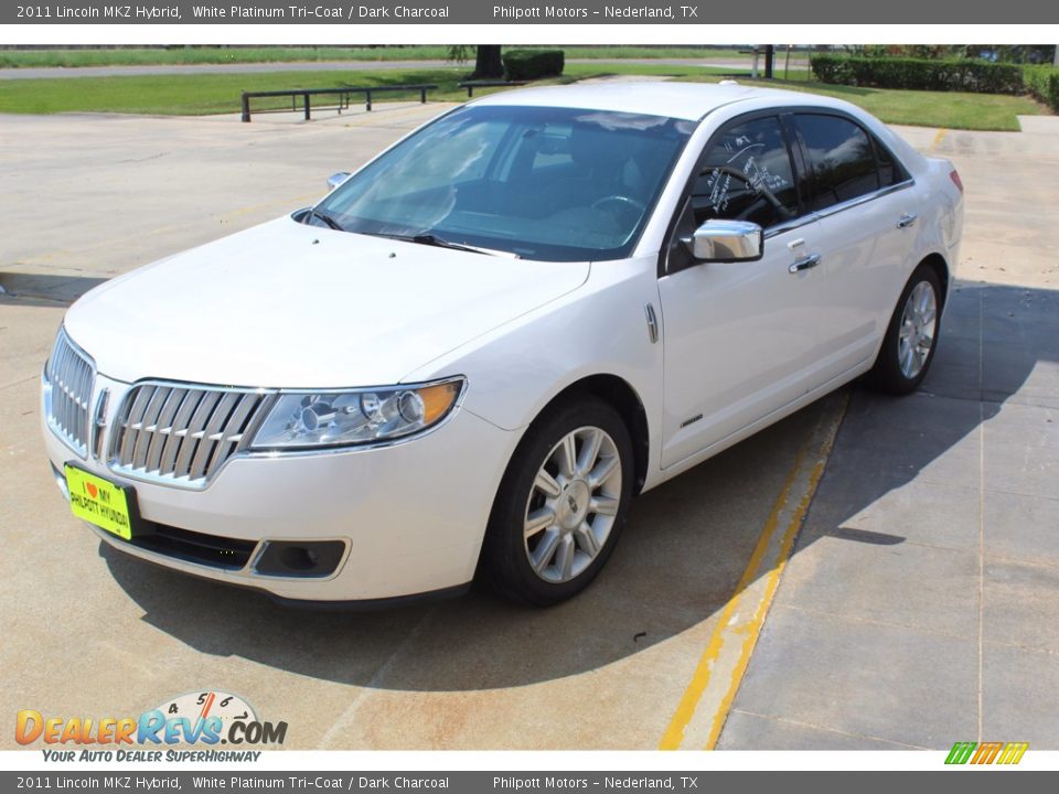
<path id="1" fill-rule="evenodd" d="M 513 47 L 512 47 L 513 49 Z M 700 47 L 567 46 L 568 58 L 728 58 L 738 50 Z M 473 49 L 468 47 L 473 57 Z M 446 61 L 447 46 L 175 47 L 172 50 L 6 50 L 0 68 L 28 66 L 133 66 L 158 64 L 280 63 L 295 61 Z"/>

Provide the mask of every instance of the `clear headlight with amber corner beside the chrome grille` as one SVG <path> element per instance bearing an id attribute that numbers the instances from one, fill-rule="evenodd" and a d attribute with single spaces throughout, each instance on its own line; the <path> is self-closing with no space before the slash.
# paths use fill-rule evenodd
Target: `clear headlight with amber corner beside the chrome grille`
<path id="1" fill-rule="evenodd" d="M 410 436 L 445 419 L 463 383 L 281 394 L 250 449 L 352 447 Z"/>

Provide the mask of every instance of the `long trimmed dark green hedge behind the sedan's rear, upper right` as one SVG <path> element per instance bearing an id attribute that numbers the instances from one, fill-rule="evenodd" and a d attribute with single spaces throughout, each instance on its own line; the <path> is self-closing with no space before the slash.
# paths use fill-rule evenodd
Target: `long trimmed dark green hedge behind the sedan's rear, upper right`
<path id="1" fill-rule="evenodd" d="M 871 88 L 1021 94 L 1023 69 L 984 61 L 849 57 L 813 55 L 813 72 L 824 83 Z"/>

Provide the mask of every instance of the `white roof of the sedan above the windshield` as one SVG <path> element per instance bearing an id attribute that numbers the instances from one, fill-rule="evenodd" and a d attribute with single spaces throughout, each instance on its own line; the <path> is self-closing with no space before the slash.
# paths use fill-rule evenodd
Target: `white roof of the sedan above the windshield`
<path id="1" fill-rule="evenodd" d="M 585 108 L 698 120 L 710 110 L 734 101 L 768 98 L 778 105 L 812 101 L 812 94 L 758 88 L 737 84 L 677 82 L 579 83 L 569 86 L 523 88 L 492 94 L 475 105 L 535 105 Z"/>

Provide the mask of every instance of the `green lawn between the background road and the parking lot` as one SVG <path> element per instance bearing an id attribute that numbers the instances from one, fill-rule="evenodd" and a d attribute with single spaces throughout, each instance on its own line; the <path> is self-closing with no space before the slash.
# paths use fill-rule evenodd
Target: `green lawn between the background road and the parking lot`
<path id="1" fill-rule="evenodd" d="M 661 64 L 607 63 L 570 64 L 559 78 L 575 79 L 603 74 L 645 74 L 691 82 L 716 82 L 724 68 L 666 66 Z M 311 74 L 265 72 L 252 74 L 141 75 L 130 77 L 78 77 L 77 79 L 0 81 L 0 112 L 53 114 L 67 111 L 127 112 L 173 116 L 205 116 L 237 112 L 244 90 L 285 88 L 341 88 L 434 83 L 439 90 L 430 99 L 461 100 L 467 94 L 457 86 L 468 67 L 434 69 L 379 69 L 366 72 L 328 71 Z M 950 129 L 1018 130 L 1016 115 L 1036 115 L 1041 108 L 1026 97 L 992 94 L 937 94 L 882 88 L 855 88 L 811 83 L 804 79 L 744 83 L 777 88 L 816 92 L 859 105 L 888 124 L 907 124 Z M 397 95 L 384 99 L 411 98 Z M 418 98 L 418 94 L 415 95 Z M 255 100 L 255 109 L 290 107 L 289 100 Z"/>

